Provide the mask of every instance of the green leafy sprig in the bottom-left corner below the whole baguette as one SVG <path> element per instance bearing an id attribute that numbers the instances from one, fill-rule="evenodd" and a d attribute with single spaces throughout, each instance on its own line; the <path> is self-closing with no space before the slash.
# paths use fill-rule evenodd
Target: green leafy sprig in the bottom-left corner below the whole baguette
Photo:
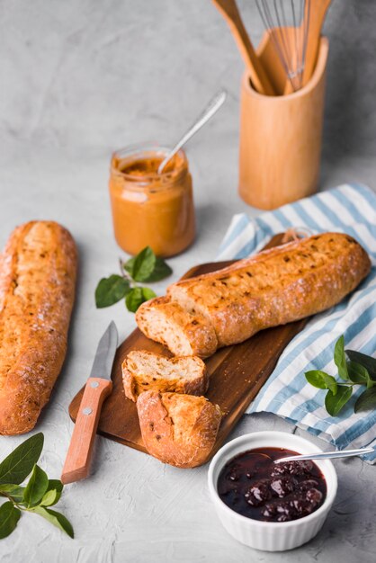
<path id="1" fill-rule="evenodd" d="M 35 434 L 0 463 L 0 497 L 7 499 L 0 505 L 0 540 L 13 532 L 22 512 L 40 514 L 71 538 L 74 536 L 67 518 L 49 508 L 58 503 L 63 484 L 58 479 L 49 479 L 37 465 L 43 442 L 43 434 Z M 30 474 L 29 482 L 21 487 Z"/>

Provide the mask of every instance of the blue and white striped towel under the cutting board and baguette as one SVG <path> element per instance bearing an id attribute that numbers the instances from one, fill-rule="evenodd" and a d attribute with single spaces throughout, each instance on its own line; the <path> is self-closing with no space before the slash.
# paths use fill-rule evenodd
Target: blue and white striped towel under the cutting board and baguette
<path id="1" fill-rule="evenodd" d="M 247 413 L 268 411 L 300 428 L 347 446 L 376 447 L 376 411 L 354 414 L 354 397 L 339 416 L 323 407 L 326 391 L 310 386 L 304 372 L 324 370 L 336 375 L 334 345 L 345 335 L 345 347 L 376 356 L 376 194 L 359 184 L 345 184 L 328 192 L 268 211 L 256 219 L 234 216 L 219 248 L 218 260 L 244 258 L 262 248 L 287 228 L 309 228 L 312 233 L 344 232 L 356 238 L 372 259 L 372 273 L 339 305 L 313 317 L 282 353 L 273 374 Z M 376 452 L 364 459 L 376 463 Z"/>

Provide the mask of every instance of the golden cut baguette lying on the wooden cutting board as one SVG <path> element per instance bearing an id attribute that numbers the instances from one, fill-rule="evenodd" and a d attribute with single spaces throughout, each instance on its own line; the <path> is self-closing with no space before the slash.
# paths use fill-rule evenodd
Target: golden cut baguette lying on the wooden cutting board
<path id="1" fill-rule="evenodd" d="M 265 250 L 217 272 L 179 281 L 167 289 L 165 308 L 177 304 L 185 314 L 200 318 L 201 327 L 214 330 L 218 347 L 237 344 L 264 328 L 333 307 L 370 269 L 369 256 L 354 238 L 324 233 Z M 155 326 L 155 308 L 153 300 L 139 308 L 136 318 L 146 335 L 166 344 L 173 353 L 182 342 L 187 347 L 187 340 L 197 355 L 212 353 L 201 344 L 194 328 L 191 326 L 188 333 L 179 318 L 175 323 L 180 323 L 180 332 L 173 333 L 167 312 L 166 321 L 159 315 Z"/>

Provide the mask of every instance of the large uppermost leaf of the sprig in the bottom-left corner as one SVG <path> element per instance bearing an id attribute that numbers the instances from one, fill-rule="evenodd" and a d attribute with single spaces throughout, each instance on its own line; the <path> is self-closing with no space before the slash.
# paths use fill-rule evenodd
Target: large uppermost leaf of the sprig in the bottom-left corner
<path id="1" fill-rule="evenodd" d="M 37 433 L 22 442 L 0 463 L 0 484 L 20 485 L 40 459 L 44 437 Z"/>

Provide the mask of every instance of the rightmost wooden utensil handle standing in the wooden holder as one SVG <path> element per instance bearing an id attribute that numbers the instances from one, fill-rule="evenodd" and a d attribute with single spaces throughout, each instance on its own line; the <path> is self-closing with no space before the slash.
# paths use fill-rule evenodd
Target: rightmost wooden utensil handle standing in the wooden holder
<path id="1" fill-rule="evenodd" d="M 331 0 L 311 0 L 309 6 L 309 32 L 306 48 L 306 63 L 303 72 L 302 86 L 305 86 L 315 70 L 318 60 L 321 29 L 327 15 Z"/>

